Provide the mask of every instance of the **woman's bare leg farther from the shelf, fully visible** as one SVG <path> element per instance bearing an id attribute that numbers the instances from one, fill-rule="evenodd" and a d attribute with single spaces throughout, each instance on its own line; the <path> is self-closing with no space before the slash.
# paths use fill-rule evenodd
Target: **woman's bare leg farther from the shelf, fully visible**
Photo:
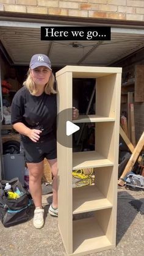
<path id="1" fill-rule="evenodd" d="M 40 163 L 27 163 L 29 169 L 29 191 L 34 205 L 42 208 L 41 177 L 43 175 L 43 161 Z"/>

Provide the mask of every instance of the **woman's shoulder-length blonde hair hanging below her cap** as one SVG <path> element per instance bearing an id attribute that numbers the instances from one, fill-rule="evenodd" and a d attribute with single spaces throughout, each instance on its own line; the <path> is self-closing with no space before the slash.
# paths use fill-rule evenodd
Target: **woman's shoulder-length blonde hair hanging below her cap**
<path id="1" fill-rule="evenodd" d="M 46 94 L 51 94 L 51 93 L 56 94 L 57 93 L 56 90 L 54 90 L 54 81 L 55 81 L 54 74 L 51 72 L 51 76 L 49 77 L 49 81 L 45 86 L 45 93 Z M 24 84 L 24 86 L 27 87 L 27 89 L 29 90 L 29 92 L 32 95 L 37 94 L 38 90 L 37 90 L 37 87 L 35 86 L 34 81 L 32 80 L 30 68 L 27 72 L 27 78 L 23 82 L 23 84 Z"/>

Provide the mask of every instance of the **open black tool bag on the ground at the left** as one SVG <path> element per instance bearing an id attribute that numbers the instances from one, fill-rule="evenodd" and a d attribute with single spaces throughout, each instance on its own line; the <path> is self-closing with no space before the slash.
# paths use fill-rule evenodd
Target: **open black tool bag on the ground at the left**
<path id="1" fill-rule="evenodd" d="M 12 191 L 15 191 L 17 186 L 23 192 L 23 196 L 20 196 L 18 199 L 8 199 L 4 191 L 7 182 L 12 186 Z M 23 187 L 18 178 L 13 178 L 9 181 L 0 181 L 0 219 L 4 227 L 10 227 L 27 221 L 29 219 L 30 205 L 31 195 Z"/>

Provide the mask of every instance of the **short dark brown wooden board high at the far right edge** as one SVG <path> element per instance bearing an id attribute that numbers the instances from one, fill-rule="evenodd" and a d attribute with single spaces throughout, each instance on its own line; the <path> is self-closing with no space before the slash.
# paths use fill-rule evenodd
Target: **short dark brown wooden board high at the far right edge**
<path id="1" fill-rule="evenodd" d="M 135 102 L 144 101 L 144 65 L 135 66 Z"/>

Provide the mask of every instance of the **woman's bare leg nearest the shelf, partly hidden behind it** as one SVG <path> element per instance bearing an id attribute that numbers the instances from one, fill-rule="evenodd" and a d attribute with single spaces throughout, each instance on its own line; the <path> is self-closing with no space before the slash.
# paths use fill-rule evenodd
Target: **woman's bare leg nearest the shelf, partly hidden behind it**
<path id="1" fill-rule="evenodd" d="M 53 175 L 52 180 L 52 207 L 57 208 L 58 207 L 58 199 L 57 199 L 57 158 L 48 160 L 50 166 L 51 166 L 51 172 Z"/>

